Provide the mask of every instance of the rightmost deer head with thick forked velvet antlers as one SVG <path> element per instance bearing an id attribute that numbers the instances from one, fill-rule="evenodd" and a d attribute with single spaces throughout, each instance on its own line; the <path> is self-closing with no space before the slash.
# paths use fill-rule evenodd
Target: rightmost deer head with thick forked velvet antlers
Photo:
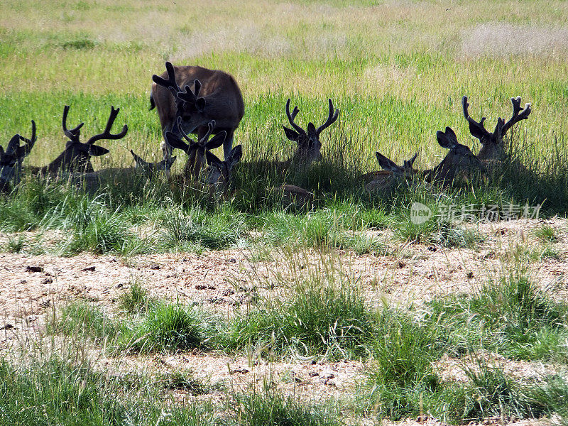
<path id="1" fill-rule="evenodd" d="M 477 154 L 480 160 L 500 160 L 503 158 L 503 137 L 507 131 L 521 120 L 528 119 L 530 114 L 530 104 L 525 104 L 525 108 L 520 107 L 520 97 L 511 98 L 513 104 L 513 116 L 509 121 L 505 122 L 504 119 L 499 117 L 497 125 L 493 133 L 489 133 L 484 126 L 485 117 L 481 117 L 481 121 L 475 121 L 469 116 L 467 97 L 461 99 L 461 106 L 464 109 L 464 117 L 469 123 L 469 132 L 479 139 L 481 142 L 481 150 Z"/>

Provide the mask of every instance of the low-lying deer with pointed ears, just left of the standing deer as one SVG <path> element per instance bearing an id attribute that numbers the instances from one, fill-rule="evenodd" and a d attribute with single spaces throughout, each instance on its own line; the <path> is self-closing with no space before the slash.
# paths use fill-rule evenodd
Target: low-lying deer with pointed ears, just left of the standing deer
<path id="1" fill-rule="evenodd" d="M 85 192 L 92 194 L 105 185 L 124 185 L 127 182 L 141 178 L 152 179 L 161 172 L 167 176 L 176 157 L 168 155 L 164 142 L 161 143 L 161 148 L 163 160 L 157 163 L 148 163 L 136 155 L 134 151 L 130 150 L 136 163 L 133 168 L 106 168 L 91 173 L 71 173 L 70 180 L 82 185 Z"/>

